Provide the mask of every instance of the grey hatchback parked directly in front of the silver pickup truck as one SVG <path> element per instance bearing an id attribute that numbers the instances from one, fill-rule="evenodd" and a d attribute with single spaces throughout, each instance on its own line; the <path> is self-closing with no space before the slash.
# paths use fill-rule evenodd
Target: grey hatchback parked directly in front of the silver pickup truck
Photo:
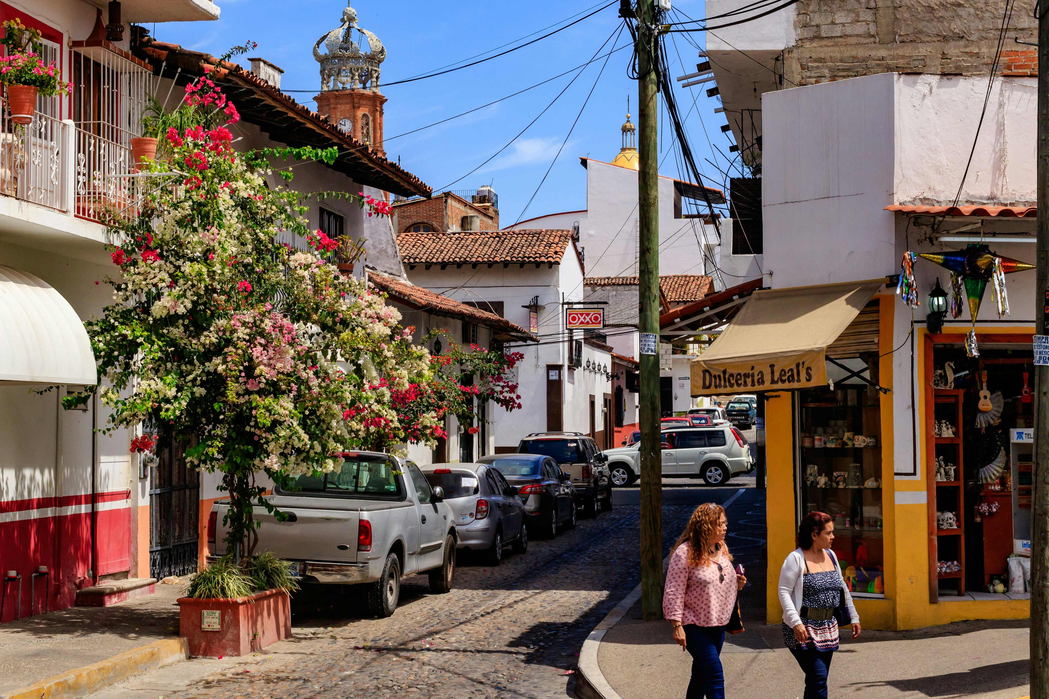
<path id="1" fill-rule="evenodd" d="M 507 544 L 514 553 L 528 550 L 524 505 L 498 471 L 481 463 L 433 463 L 422 472 L 431 487 L 445 492 L 458 534 L 455 548 L 481 551 L 492 566 L 502 561 Z"/>

